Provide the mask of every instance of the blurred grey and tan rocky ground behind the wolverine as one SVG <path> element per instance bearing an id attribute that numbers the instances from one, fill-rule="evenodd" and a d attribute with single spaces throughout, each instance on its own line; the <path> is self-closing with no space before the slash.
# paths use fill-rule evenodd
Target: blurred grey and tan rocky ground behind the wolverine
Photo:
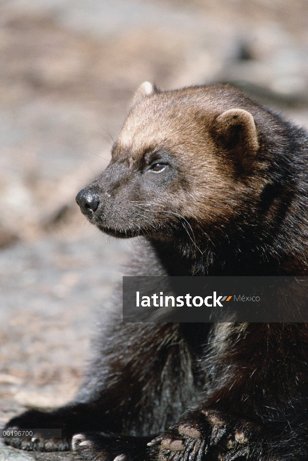
<path id="1" fill-rule="evenodd" d="M 308 126 L 307 22 L 306 0 L 0 1 L 0 427 L 82 380 L 133 243 L 88 225 L 74 197 L 134 90 L 231 82 Z"/>

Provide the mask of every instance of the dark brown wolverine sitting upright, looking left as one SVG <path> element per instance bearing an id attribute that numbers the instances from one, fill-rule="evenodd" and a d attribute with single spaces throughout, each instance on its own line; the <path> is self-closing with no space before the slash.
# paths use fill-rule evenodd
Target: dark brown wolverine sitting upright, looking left
<path id="1" fill-rule="evenodd" d="M 138 237 L 126 275 L 308 276 L 308 138 L 228 85 L 137 91 L 102 175 L 76 196 Z M 61 428 L 86 461 L 308 458 L 306 323 L 125 323 L 122 293 L 73 402 L 8 428 Z"/>

